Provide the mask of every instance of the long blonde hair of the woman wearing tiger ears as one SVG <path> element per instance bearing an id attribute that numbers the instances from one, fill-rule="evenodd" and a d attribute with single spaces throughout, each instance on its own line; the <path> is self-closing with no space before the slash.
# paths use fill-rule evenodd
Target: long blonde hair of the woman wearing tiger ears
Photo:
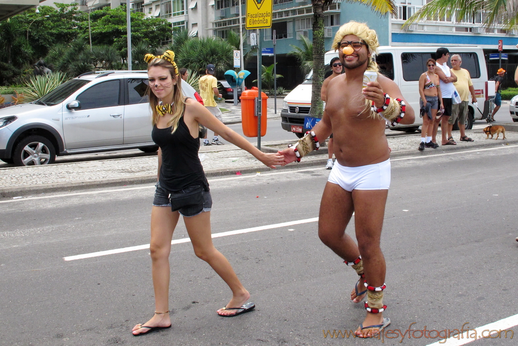
<path id="1" fill-rule="evenodd" d="M 178 128 L 178 122 L 183 114 L 185 109 L 185 99 L 182 93 L 182 79 L 178 74 L 176 74 L 176 68 L 167 60 L 162 59 L 161 57 L 155 57 L 155 59 L 151 60 L 148 65 L 148 71 L 151 67 L 160 66 L 165 67 L 169 71 L 171 78 L 173 81 L 176 81 L 176 85 L 173 86 L 173 114 L 171 120 L 167 123 L 167 126 L 172 127 L 171 133 L 175 133 Z M 151 85 L 148 85 L 148 96 L 149 96 L 149 105 L 151 107 L 151 111 L 153 112 L 153 125 L 156 125 L 160 116 L 156 111 L 156 106 L 159 105 L 159 98 L 151 90 Z"/>

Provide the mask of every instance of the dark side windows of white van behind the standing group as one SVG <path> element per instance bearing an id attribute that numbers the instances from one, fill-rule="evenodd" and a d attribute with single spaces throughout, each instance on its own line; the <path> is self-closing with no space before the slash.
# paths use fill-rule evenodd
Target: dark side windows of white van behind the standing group
<path id="1" fill-rule="evenodd" d="M 461 55 L 461 67 L 469 71 L 471 78 L 480 78 L 479 57 L 477 53 L 456 53 L 451 51 L 450 56 L 453 54 Z M 419 80 L 419 77 L 426 71 L 426 61 L 430 59 L 430 57 L 431 59 L 435 59 L 435 52 L 402 53 L 401 65 L 403 67 L 403 79 L 406 81 Z M 448 66 L 451 68 L 450 62 L 448 62 Z"/>

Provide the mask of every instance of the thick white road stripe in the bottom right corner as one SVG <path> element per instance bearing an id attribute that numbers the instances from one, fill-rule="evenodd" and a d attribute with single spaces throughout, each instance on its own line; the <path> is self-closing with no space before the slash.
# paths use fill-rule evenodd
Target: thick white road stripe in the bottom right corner
<path id="1" fill-rule="evenodd" d="M 446 339 L 446 341 L 444 341 L 444 339 L 441 339 L 440 341 L 437 341 L 437 342 L 434 342 L 434 343 L 430 343 L 428 344 L 427 346 L 439 346 L 439 345 L 445 345 L 445 346 L 461 346 L 461 345 L 464 345 L 464 344 L 467 344 L 468 342 L 471 342 L 471 341 L 475 341 L 475 340 L 480 340 L 480 339 L 506 339 L 506 335 L 503 334 L 503 337 L 502 337 L 502 333 L 501 331 L 503 330 L 506 330 L 506 329 L 509 329 L 509 328 L 512 328 L 514 326 L 518 325 L 518 314 L 516 315 L 513 315 L 513 316 L 509 316 L 505 319 L 502 319 L 500 321 L 496 321 L 496 322 L 493 322 L 493 323 L 489 323 L 489 324 L 486 324 L 482 327 L 478 327 L 478 328 L 474 328 L 474 329 L 471 329 L 469 328 L 469 331 L 467 331 L 467 334 L 466 334 L 466 337 L 464 337 L 464 334 L 461 334 L 461 336 L 459 336 L 459 339 L 457 339 L 456 337 L 455 338 L 449 338 L 449 339 Z M 468 328 L 466 326 L 466 328 Z M 474 330 L 474 331 L 473 331 Z M 476 331 L 476 334 L 475 334 L 475 331 Z M 493 333 L 491 333 L 493 332 Z M 469 333 L 469 334 L 468 334 Z M 498 335 L 496 337 L 490 337 L 490 335 L 494 335 L 494 334 L 497 334 Z M 453 334 L 453 333 L 452 333 Z M 511 333 L 513 334 L 513 333 Z M 509 335 L 511 335 L 509 334 Z M 468 336 L 471 336 L 471 335 L 476 335 L 477 338 L 469 338 Z M 509 338 L 511 339 L 511 338 Z M 500 341 L 500 342 L 503 342 L 503 341 Z"/>

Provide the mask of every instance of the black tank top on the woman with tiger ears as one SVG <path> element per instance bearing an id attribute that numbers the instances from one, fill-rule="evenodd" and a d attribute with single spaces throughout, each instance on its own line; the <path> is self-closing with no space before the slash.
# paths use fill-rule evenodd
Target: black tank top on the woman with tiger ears
<path id="1" fill-rule="evenodd" d="M 208 190 L 205 172 L 198 158 L 199 139 L 191 136 L 183 114 L 174 134 L 171 134 L 171 127 L 157 128 L 154 125 L 151 137 L 162 150 L 159 181 L 166 191 L 176 192 L 192 185 L 203 185 Z"/>

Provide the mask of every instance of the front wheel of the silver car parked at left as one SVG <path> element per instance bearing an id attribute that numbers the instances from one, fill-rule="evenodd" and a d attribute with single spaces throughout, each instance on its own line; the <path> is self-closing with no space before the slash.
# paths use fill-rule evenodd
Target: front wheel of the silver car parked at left
<path id="1" fill-rule="evenodd" d="M 28 136 L 22 139 L 12 156 L 17 166 L 39 166 L 54 163 L 56 152 L 51 141 L 42 136 Z"/>

